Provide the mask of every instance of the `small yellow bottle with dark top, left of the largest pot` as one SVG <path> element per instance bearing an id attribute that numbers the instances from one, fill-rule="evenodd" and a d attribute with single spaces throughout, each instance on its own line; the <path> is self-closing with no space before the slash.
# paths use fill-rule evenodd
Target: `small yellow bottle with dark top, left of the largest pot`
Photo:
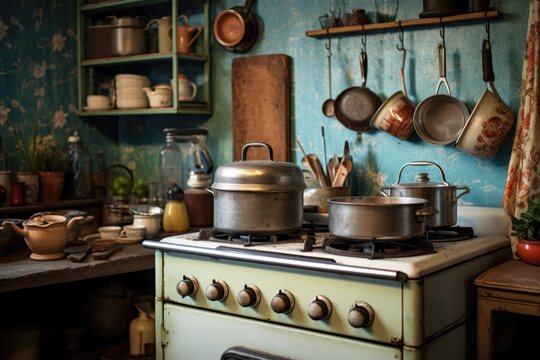
<path id="1" fill-rule="evenodd" d="M 163 211 L 163 231 L 181 233 L 189 229 L 189 216 L 184 203 L 184 191 L 173 184 L 167 191 L 167 204 Z"/>

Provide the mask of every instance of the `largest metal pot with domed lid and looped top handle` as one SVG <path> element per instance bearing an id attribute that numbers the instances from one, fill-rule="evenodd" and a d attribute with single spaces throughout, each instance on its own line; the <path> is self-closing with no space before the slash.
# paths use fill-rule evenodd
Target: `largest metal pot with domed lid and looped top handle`
<path id="1" fill-rule="evenodd" d="M 268 160 L 247 160 L 247 151 L 264 147 Z M 302 171 L 273 161 L 270 145 L 249 143 L 242 160 L 217 168 L 214 183 L 214 228 L 232 234 L 279 234 L 299 229 L 303 219 Z"/>

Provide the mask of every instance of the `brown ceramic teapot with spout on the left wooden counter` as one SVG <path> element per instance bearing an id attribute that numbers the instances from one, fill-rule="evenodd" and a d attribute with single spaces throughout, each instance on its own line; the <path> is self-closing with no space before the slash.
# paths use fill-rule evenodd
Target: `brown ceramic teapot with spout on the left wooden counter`
<path id="1" fill-rule="evenodd" d="M 32 251 L 32 260 L 56 260 L 64 257 L 62 249 L 66 246 L 68 232 L 83 216 L 71 219 L 62 215 L 37 213 L 23 222 L 23 229 L 12 221 L 4 221 L 2 226 L 8 224 L 19 235 L 24 237 L 26 245 Z"/>

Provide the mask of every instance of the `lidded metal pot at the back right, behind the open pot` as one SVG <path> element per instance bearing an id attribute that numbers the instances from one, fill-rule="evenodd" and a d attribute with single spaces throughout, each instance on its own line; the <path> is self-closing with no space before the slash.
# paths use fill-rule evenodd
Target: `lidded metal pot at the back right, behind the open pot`
<path id="1" fill-rule="evenodd" d="M 431 182 L 427 173 L 416 175 L 416 182 L 400 183 L 401 173 L 408 166 L 435 166 L 439 169 L 442 182 Z M 462 191 L 458 194 L 458 191 Z M 428 206 L 436 208 L 439 213 L 430 217 L 428 226 L 452 226 L 457 222 L 457 200 L 469 193 L 469 187 L 464 185 L 450 185 L 446 181 L 444 171 L 438 164 L 431 161 L 413 161 L 399 169 L 398 179 L 392 186 L 381 188 L 381 194 L 385 196 L 406 196 L 423 198 L 428 201 Z"/>

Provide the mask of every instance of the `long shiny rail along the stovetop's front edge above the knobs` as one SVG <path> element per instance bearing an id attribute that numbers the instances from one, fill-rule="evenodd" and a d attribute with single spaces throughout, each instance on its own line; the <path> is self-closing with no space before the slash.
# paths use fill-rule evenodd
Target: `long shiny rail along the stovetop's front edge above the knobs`
<path id="1" fill-rule="evenodd" d="M 255 253 L 254 251 L 246 249 L 231 249 L 224 247 L 220 249 L 212 249 L 198 246 L 172 244 L 155 240 L 144 240 L 142 242 L 142 246 L 164 252 L 207 256 L 213 259 L 236 260 L 264 265 L 285 266 L 302 270 L 322 271 L 342 275 L 366 276 L 372 278 L 397 280 L 400 282 L 405 282 L 407 280 L 407 274 L 400 271 L 340 265 L 336 264 L 332 260 L 321 261 L 323 259 L 318 259 L 318 261 L 313 261 L 314 259 L 309 257 L 305 257 L 304 260 L 302 259 L 303 256 L 300 255 L 294 256 L 283 253 L 272 253 L 273 255 L 278 256 L 268 256 L 265 255 L 265 253 Z"/>

